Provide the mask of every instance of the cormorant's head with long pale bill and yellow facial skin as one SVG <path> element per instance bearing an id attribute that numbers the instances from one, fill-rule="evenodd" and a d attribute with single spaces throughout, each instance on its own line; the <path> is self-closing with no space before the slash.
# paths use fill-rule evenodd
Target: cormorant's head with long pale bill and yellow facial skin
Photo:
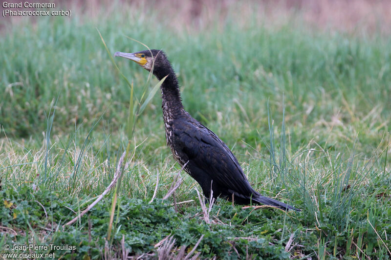
<path id="1" fill-rule="evenodd" d="M 151 71 L 153 68 L 153 72 L 159 71 L 162 68 L 167 67 L 167 65 L 170 65 L 170 62 L 167 60 L 166 54 L 162 50 L 145 50 L 145 51 L 133 52 L 133 53 L 125 53 L 125 52 L 114 53 L 114 57 L 117 56 L 129 60 L 133 60 L 138 65 L 140 65 L 141 67 L 143 67 L 148 71 Z"/>

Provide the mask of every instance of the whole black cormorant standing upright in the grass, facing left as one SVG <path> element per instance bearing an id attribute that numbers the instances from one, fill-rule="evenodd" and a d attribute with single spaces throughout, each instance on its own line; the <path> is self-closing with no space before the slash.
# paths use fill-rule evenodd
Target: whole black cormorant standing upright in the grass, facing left
<path id="1" fill-rule="evenodd" d="M 158 80 L 168 75 L 160 86 L 167 145 L 181 166 L 187 162 L 184 170 L 199 183 L 206 198 L 210 198 L 212 186 L 215 199 L 219 196 L 228 200 L 233 198 L 239 204 L 253 202 L 300 211 L 255 191 L 228 146 L 184 110 L 178 80 L 163 51 L 116 52 L 116 56 L 133 60 L 144 69 L 152 70 Z"/>

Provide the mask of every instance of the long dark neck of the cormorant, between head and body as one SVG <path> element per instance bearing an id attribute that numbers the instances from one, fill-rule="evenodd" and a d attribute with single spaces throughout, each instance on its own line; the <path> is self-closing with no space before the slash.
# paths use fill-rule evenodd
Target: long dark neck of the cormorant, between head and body
<path id="1" fill-rule="evenodd" d="M 159 73 L 155 74 L 155 76 L 158 80 L 162 80 L 167 76 L 166 80 L 164 80 L 160 86 L 162 91 L 163 114 L 171 117 L 171 119 L 180 116 L 184 110 L 180 98 L 179 83 L 174 69 L 170 67 L 166 71 L 160 71 Z M 170 118 L 165 118 L 165 120 L 170 120 Z"/>

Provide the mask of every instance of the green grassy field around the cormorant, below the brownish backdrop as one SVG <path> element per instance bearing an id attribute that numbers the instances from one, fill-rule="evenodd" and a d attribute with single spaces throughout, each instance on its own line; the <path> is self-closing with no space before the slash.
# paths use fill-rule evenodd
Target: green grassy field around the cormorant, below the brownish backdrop
<path id="1" fill-rule="evenodd" d="M 4 23 L 1 253 L 390 259 L 389 35 L 313 30 L 300 19 L 273 26 L 257 10 L 238 22 L 238 6 L 207 26 L 181 27 L 137 8 Z M 96 29 L 111 54 L 145 49 L 126 36 L 162 48 L 185 109 L 227 143 L 256 190 L 302 212 L 217 200 L 205 221 L 200 188 L 184 172 L 162 200 L 180 168 L 166 146 L 158 92 L 135 122 L 111 235 L 114 191 L 63 226 L 105 191 L 128 145 L 130 87 Z M 133 62 L 115 61 L 138 99 L 157 83 Z"/>

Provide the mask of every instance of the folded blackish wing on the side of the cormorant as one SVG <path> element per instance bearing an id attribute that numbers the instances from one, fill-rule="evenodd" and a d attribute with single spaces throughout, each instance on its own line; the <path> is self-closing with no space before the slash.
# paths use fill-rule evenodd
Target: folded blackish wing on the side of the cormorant
<path id="1" fill-rule="evenodd" d="M 239 194 L 254 192 L 231 150 L 201 123 L 176 124 L 173 138 L 187 160 L 209 175 L 215 184 Z"/>

